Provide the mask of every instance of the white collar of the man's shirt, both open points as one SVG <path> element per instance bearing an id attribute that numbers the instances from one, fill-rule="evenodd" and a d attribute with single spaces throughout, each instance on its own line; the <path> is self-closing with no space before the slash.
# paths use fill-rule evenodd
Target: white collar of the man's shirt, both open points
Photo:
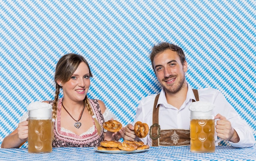
<path id="1" fill-rule="evenodd" d="M 195 100 L 195 95 L 193 93 L 193 90 L 192 90 L 191 86 L 189 85 L 189 83 L 187 83 L 187 85 L 188 85 L 188 92 L 186 94 L 186 100 L 185 100 L 186 104 L 189 101 L 191 101 L 192 99 Z M 160 95 L 159 95 L 159 98 L 158 98 L 158 101 L 157 101 L 157 105 L 158 104 L 162 104 L 164 107 L 167 107 L 167 108 L 173 107 L 173 106 L 171 106 L 171 104 L 167 103 L 167 100 L 166 100 L 166 97 L 165 97 L 165 91 L 164 91 L 163 87 L 161 89 L 161 92 L 160 92 Z"/>

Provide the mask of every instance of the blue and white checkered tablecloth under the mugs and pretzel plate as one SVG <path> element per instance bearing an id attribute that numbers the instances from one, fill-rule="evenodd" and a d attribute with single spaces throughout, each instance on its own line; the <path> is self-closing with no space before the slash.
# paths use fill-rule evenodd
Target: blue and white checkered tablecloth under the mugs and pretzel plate
<path id="1" fill-rule="evenodd" d="M 218 146 L 213 153 L 192 153 L 189 146 L 150 147 L 145 152 L 109 154 L 95 148 L 53 148 L 51 153 L 32 154 L 27 148 L 0 149 L 1 161 L 166 161 L 166 160 L 255 160 L 256 146 L 234 148 Z"/>

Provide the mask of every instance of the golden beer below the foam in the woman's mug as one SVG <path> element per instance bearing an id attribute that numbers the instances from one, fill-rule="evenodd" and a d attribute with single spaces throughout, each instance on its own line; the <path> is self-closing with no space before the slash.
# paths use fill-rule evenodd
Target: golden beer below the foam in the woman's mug
<path id="1" fill-rule="evenodd" d="M 52 118 L 49 120 L 29 118 L 28 152 L 52 152 Z"/>

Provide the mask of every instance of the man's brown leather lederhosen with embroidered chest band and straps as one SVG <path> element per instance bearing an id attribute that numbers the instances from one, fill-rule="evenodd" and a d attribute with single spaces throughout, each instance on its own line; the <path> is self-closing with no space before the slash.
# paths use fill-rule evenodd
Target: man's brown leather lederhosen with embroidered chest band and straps
<path id="1" fill-rule="evenodd" d="M 195 95 L 195 100 L 199 100 L 198 90 L 192 89 Z M 150 126 L 149 135 L 152 139 L 152 146 L 185 146 L 190 145 L 190 130 L 184 129 L 171 129 L 171 130 L 161 130 L 158 124 L 158 113 L 159 104 L 157 106 L 157 101 L 159 94 L 155 98 L 155 103 L 153 107 L 153 125 Z M 192 102 L 195 102 L 192 100 Z M 157 106 L 157 108 L 156 108 Z"/>

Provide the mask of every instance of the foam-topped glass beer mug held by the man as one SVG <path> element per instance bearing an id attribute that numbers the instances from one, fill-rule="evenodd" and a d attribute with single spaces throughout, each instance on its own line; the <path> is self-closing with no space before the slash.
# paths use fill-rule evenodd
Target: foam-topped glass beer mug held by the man
<path id="1" fill-rule="evenodd" d="M 200 101 L 192 102 L 189 106 L 191 152 L 215 152 L 213 108 L 213 104 Z"/>

